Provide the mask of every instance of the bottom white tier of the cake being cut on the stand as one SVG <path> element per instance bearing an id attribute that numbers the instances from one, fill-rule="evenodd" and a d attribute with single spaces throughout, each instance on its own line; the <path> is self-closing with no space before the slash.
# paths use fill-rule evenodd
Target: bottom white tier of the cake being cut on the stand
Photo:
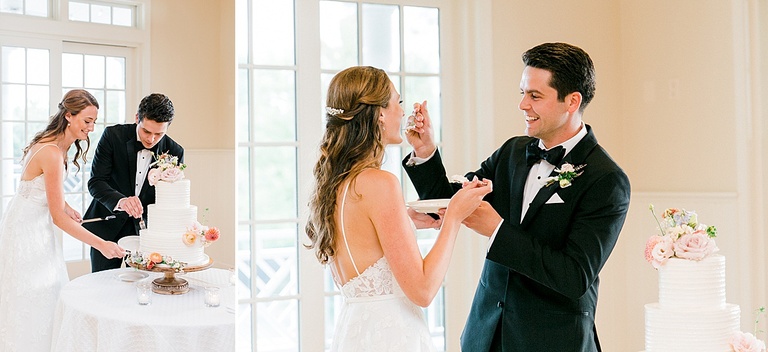
<path id="1" fill-rule="evenodd" d="M 139 250 L 142 253 L 157 252 L 174 260 L 185 262 L 189 266 L 202 265 L 208 260 L 200 241 L 190 247 L 184 244 L 182 241 L 183 231 L 168 233 L 147 229 L 141 230 L 140 233 Z"/>

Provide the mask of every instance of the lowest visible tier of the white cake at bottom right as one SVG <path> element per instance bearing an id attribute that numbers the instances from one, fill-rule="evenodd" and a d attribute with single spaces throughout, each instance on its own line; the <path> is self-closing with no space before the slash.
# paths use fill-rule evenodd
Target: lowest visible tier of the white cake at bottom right
<path id="1" fill-rule="evenodd" d="M 726 352 L 728 339 L 739 330 L 736 304 L 721 309 L 669 309 L 645 305 L 646 352 Z"/>

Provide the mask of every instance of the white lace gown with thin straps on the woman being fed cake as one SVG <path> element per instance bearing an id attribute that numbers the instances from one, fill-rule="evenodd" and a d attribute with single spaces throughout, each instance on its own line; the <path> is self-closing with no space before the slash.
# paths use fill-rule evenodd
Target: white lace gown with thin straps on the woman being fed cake
<path id="1" fill-rule="evenodd" d="M 344 203 L 341 205 L 341 233 L 344 242 Z M 424 352 L 436 351 L 421 307 L 411 302 L 397 284 L 389 263 L 381 257 L 362 273 L 349 258 L 357 276 L 341 286 L 341 308 L 332 352 Z"/>

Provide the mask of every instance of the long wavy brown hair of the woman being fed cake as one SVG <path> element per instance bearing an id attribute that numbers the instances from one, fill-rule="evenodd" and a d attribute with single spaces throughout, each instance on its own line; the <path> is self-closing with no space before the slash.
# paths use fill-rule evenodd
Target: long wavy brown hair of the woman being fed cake
<path id="1" fill-rule="evenodd" d="M 370 66 L 347 68 L 331 80 L 320 158 L 315 164 L 315 188 L 309 201 L 306 232 L 322 264 L 336 254 L 336 194 L 339 186 L 354 180 L 366 168 L 379 168 L 384 156 L 379 111 L 392 94 L 384 70 Z"/>

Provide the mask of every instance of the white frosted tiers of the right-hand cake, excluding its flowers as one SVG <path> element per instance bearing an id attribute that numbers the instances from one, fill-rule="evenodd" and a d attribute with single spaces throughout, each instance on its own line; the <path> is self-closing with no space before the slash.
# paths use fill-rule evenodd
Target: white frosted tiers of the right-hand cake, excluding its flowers
<path id="1" fill-rule="evenodd" d="M 645 305 L 645 351 L 731 351 L 740 314 L 725 301 L 724 256 L 669 258 L 659 268 L 659 302 Z"/>

